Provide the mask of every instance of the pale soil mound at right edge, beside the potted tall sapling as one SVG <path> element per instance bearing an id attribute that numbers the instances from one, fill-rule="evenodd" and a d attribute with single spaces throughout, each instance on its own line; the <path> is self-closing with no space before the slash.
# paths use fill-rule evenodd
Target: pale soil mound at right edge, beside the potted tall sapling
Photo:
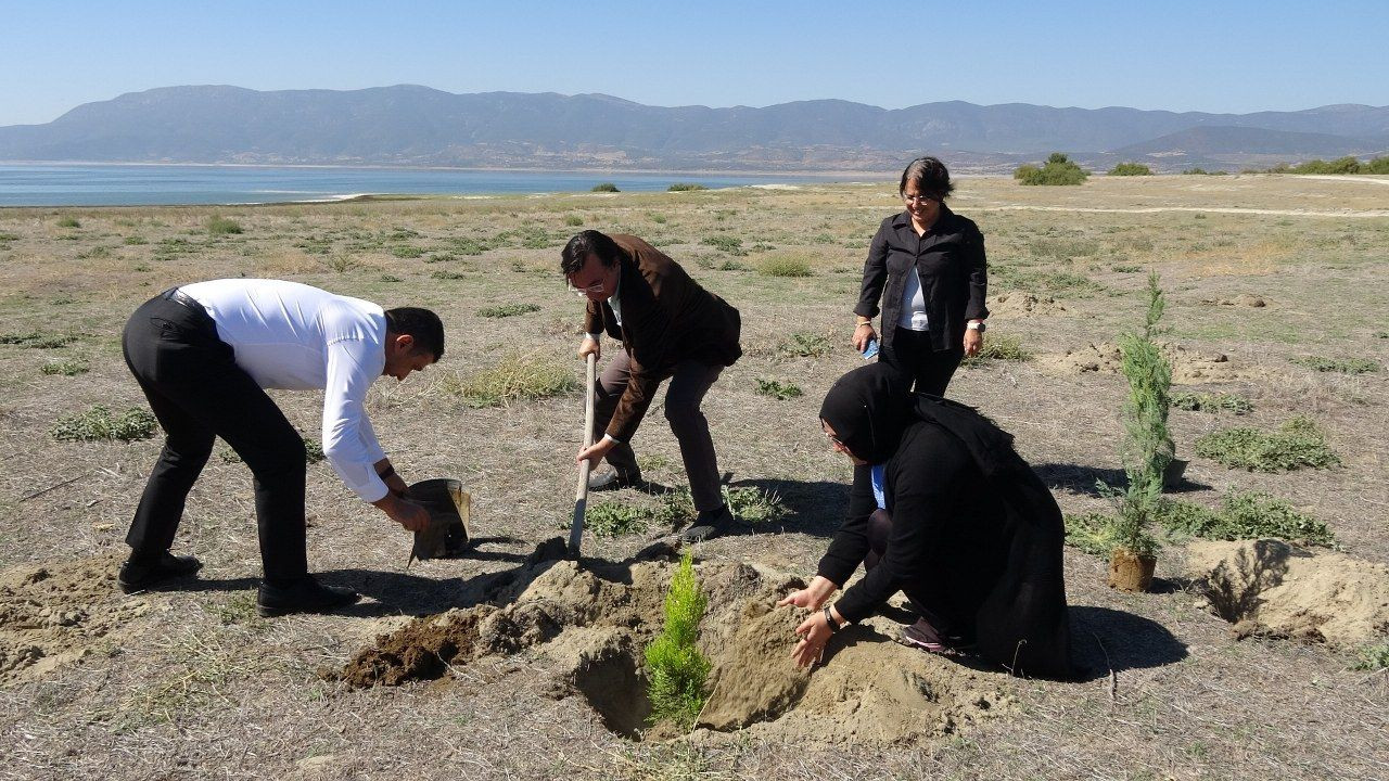
<path id="1" fill-rule="evenodd" d="M 1278 539 L 1193 542 L 1188 574 L 1236 636 L 1351 646 L 1389 634 L 1389 567 Z"/>

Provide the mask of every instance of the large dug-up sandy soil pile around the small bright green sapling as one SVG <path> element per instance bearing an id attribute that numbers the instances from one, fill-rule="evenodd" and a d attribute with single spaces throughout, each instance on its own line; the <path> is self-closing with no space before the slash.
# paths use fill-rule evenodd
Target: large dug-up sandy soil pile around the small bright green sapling
<path id="1" fill-rule="evenodd" d="M 554 696 L 582 696 L 604 725 L 628 738 L 646 731 L 642 649 L 657 634 L 672 566 L 544 561 L 493 589 L 493 605 L 424 617 L 382 635 L 335 677 L 351 685 L 451 675 L 485 656 L 538 649 Z M 886 618 L 846 630 L 813 673 L 790 660 L 801 611 L 774 607 L 801 584 L 739 563 L 699 566 L 710 609 L 700 646 L 713 663 L 711 695 L 694 739 L 749 730 L 770 741 L 910 743 L 1004 712 L 1000 674 L 981 673 L 890 641 Z"/>

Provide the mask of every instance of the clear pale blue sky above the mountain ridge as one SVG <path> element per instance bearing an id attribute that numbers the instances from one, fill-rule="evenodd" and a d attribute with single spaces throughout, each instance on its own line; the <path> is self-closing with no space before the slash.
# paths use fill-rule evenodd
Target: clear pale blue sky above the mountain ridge
<path id="1" fill-rule="evenodd" d="M 1389 104 L 1389 0 L 0 0 L 0 125 L 157 86 L 840 97 L 1175 111 Z"/>

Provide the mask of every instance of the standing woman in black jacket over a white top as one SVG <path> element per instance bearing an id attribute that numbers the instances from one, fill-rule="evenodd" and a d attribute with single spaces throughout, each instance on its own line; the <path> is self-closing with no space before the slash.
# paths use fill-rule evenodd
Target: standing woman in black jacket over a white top
<path id="1" fill-rule="evenodd" d="M 983 346 L 988 263 L 983 233 L 950 211 L 950 172 L 918 157 L 901 172 L 906 211 L 882 221 L 868 247 L 863 292 L 854 307 L 854 349 L 878 338 L 872 318 L 882 299 L 878 360 L 910 378 L 918 393 L 945 396 L 964 356 Z"/>

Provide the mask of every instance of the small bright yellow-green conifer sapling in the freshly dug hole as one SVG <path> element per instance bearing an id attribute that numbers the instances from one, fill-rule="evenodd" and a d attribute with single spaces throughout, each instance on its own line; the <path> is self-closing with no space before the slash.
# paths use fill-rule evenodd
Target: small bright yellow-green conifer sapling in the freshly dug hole
<path id="1" fill-rule="evenodd" d="M 665 625 L 646 646 L 653 724 L 671 721 L 681 730 L 690 730 L 704 707 L 708 696 L 704 682 L 711 666 L 694 642 L 706 606 L 707 598 L 694 578 L 694 563 L 686 550 L 665 593 Z"/>

